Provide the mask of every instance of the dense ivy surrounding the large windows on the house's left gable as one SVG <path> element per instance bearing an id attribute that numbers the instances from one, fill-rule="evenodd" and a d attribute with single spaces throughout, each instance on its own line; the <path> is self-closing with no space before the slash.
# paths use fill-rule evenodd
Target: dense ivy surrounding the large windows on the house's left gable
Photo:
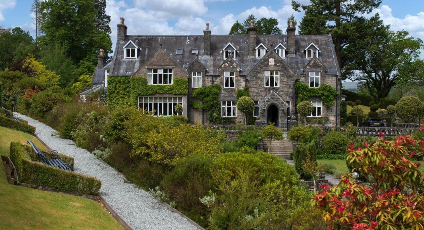
<path id="1" fill-rule="evenodd" d="M 137 107 L 139 96 L 156 93 L 187 95 L 188 79 L 174 78 L 172 85 L 148 85 L 144 77 L 109 77 L 107 96 L 110 107 Z"/>

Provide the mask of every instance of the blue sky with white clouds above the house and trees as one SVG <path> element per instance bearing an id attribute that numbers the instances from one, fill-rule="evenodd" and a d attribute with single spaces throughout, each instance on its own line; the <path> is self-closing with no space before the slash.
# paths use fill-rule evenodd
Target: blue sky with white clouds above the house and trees
<path id="1" fill-rule="evenodd" d="M 302 3 L 309 0 L 299 0 Z M 249 14 L 257 18 L 279 19 L 285 31 L 287 17 L 294 14 L 300 21 L 303 13 L 291 8 L 291 0 L 106 0 L 111 16 L 112 41 L 116 41 L 116 24 L 122 16 L 128 34 L 179 35 L 202 34 L 210 23 L 213 34 L 226 34 L 236 21 Z M 0 0 L 0 26 L 20 26 L 34 33 L 30 15 L 32 0 Z M 407 30 L 424 40 L 424 0 L 383 0 L 379 12 L 393 30 Z"/>

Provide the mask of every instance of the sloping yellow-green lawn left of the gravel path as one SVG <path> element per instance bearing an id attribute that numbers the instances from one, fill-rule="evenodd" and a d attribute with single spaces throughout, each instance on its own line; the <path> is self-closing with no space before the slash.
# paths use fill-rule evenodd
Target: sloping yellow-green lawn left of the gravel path
<path id="1" fill-rule="evenodd" d="M 30 134 L 0 127 L 0 154 L 9 155 L 11 141 L 33 141 Z M 0 164 L 0 229 L 123 229 L 96 201 L 67 194 L 11 185 Z"/>

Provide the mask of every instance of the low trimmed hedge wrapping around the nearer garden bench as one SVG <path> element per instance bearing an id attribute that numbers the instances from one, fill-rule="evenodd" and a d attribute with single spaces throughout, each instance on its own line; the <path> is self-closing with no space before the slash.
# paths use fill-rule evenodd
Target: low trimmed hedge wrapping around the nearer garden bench
<path id="1" fill-rule="evenodd" d="M 31 159 L 31 156 L 34 157 L 36 154 L 30 146 L 19 142 L 10 143 L 10 159 L 16 167 L 20 182 L 69 192 L 99 195 L 100 180 L 36 162 L 36 159 Z M 62 160 L 66 161 L 66 159 Z"/>

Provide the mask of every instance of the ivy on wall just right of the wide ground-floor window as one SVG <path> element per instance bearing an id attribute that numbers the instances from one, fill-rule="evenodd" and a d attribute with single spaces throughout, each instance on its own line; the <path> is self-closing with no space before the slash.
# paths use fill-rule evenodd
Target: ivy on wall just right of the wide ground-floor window
<path id="1" fill-rule="evenodd" d="M 212 124 L 234 123 L 234 118 L 221 116 L 221 102 L 218 99 L 220 85 L 209 85 L 193 90 L 192 97 L 200 101 L 190 101 L 193 108 L 201 108 L 209 112 L 208 120 Z"/>

